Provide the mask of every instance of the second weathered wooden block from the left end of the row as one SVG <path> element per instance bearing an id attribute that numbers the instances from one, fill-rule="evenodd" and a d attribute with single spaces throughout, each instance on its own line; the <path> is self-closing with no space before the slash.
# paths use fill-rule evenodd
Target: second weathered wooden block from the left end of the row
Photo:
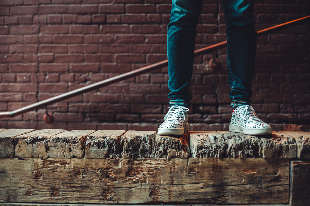
<path id="1" fill-rule="evenodd" d="M 50 137 L 64 129 L 35 130 L 15 137 L 15 156 L 22 158 L 49 158 Z"/>

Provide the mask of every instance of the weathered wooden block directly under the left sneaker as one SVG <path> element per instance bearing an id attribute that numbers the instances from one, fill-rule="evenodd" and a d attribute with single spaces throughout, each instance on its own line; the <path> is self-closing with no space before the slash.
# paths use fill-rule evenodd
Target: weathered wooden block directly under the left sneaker
<path id="1" fill-rule="evenodd" d="M 189 158 L 190 148 L 188 133 L 183 136 L 156 135 L 156 157 L 158 158 Z"/>

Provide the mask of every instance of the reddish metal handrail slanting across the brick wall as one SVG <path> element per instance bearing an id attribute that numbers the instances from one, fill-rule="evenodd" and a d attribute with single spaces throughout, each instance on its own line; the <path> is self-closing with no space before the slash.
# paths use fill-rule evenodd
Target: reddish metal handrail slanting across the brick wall
<path id="1" fill-rule="evenodd" d="M 303 17 L 303 18 L 300 18 L 300 19 L 290 21 L 290 22 L 282 23 L 282 24 L 279 24 L 279 25 L 276 25 L 273 27 L 268 27 L 266 29 L 258 31 L 257 36 L 263 36 L 265 34 L 269 34 L 269 33 L 273 32 L 273 31 L 280 30 L 280 29 L 283 29 L 286 27 L 290 27 L 297 22 L 300 22 L 300 21 L 303 21 L 303 20 L 306 20 L 309 18 L 310 18 L 310 15 Z M 196 56 L 208 53 L 208 52 L 212 52 L 216 49 L 224 48 L 225 46 L 226 46 L 226 41 L 223 41 L 223 42 L 220 42 L 218 44 L 214 44 L 214 45 L 211 45 L 211 46 L 208 46 L 205 48 L 201 48 L 201 49 L 198 49 L 195 51 L 194 56 L 196 57 Z M 14 117 L 16 115 L 20 115 L 20 114 L 23 114 L 23 113 L 31 111 L 31 110 L 35 110 L 35 109 L 38 109 L 41 107 L 45 107 L 47 105 L 62 101 L 64 99 L 69 99 L 71 97 L 89 92 L 91 90 L 95 90 L 95 89 L 98 89 L 98 88 L 101 88 L 104 86 L 108 86 L 110 84 L 120 82 L 122 80 L 125 80 L 125 79 L 131 78 L 131 77 L 138 76 L 140 74 L 144 74 L 144 73 L 162 68 L 164 66 L 167 66 L 167 64 L 168 64 L 168 60 L 160 61 L 156 64 L 148 65 L 148 66 L 142 67 L 140 69 L 135 69 L 133 71 L 130 71 L 130 72 L 127 72 L 127 73 L 124 73 L 124 74 L 121 74 L 121 75 L 118 75 L 118 76 L 115 76 L 112 78 L 108 78 L 108 79 L 105 79 L 103 81 L 100 81 L 100 82 L 97 82 L 97 83 L 94 83 L 94 84 L 91 84 L 88 86 L 84 86 L 82 88 L 79 88 L 79 89 L 76 89 L 73 91 L 69 91 L 69 92 L 66 92 L 64 94 L 57 95 L 55 97 L 51 97 L 49 99 L 39 101 L 37 103 L 30 104 L 30 105 L 28 105 L 26 107 L 22 107 L 20 109 L 16 109 L 13 111 L 0 112 L 0 118 Z"/>

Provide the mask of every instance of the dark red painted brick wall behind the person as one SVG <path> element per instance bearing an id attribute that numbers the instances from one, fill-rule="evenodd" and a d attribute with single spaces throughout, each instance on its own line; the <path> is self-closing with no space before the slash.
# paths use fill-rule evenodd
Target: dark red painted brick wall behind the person
<path id="1" fill-rule="evenodd" d="M 170 0 L 0 0 L 0 110 L 166 59 Z M 309 15 L 308 0 L 256 0 L 257 30 Z M 205 0 L 196 48 L 225 40 L 223 8 Z M 252 99 L 274 130 L 310 129 L 309 22 L 259 37 Z M 228 130 L 226 49 L 195 58 L 190 130 Z M 157 130 L 167 111 L 167 69 L 1 119 L 1 128 Z"/>

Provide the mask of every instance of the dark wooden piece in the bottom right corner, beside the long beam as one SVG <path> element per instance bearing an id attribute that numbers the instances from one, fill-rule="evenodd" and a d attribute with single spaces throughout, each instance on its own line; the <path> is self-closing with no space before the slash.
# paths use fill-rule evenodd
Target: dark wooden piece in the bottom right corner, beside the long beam
<path id="1" fill-rule="evenodd" d="M 310 161 L 292 161 L 291 177 L 291 206 L 310 205 Z"/>

